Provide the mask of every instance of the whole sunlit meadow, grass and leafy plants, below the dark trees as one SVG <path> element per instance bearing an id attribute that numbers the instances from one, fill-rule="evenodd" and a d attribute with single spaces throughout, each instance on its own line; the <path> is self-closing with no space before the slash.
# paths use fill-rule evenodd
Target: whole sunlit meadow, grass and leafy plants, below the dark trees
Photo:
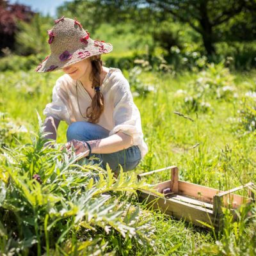
<path id="1" fill-rule="evenodd" d="M 256 182 L 255 70 L 230 72 L 219 63 L 176 73 L 138 64 L 122 72 L 149 152 L 132 175 L 117 180 L 60 151 L 64 122 L 59 146 L 43 147 L 36 111 L 44 120 L 61 72 L 1 72 L 1 255 L 255 255 L 255 204 L 241 207 L 234 223 L 226 211 L 218 233 L 148 210 L 135 193 L 170 177 L 157 173 L 138 183 L 136 174 L 170 165 L 182 180 L 221 190 Z"/>

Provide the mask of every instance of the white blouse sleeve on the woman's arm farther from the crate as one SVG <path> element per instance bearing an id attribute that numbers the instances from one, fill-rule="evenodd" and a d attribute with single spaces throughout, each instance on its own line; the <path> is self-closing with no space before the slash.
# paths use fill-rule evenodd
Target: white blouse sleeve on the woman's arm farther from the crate
<path id="1" fill-rule="evenodd" d="M 52 89 L 52 102 L 45 106 L 43 113 L 46 116 L 53 116 L 58 120 L 64 120 L 68 124 L 70 123 L 68 93 L 65 91 L 61 77 L 56 81 Z"/>

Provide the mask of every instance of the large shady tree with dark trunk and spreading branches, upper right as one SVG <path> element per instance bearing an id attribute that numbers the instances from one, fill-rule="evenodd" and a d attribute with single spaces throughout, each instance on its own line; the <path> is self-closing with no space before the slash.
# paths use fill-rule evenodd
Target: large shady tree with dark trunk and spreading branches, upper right
<path id="1" fill-rule="evenodd" d="M 124 10 L 128 10 L 128 8 L 130 10 L 133 8 L 137 13 L 147 9 L 148 17 L 141 17 L 141 15 L 133 17 L 139 26 L 141 22 L 138 22 L 138 18 L 143 21 L 145 19 L 150 21 L 156 15 L 159 18 L 159 13 L 163 19 L 171 15 L 173 19 L 189 24 L 202 36 L 202 42 L 208 56 L 215 54 L 215 42 L 228 39 L 229 27 L 234 31 L 233 40 L 253 40 L 256 36 L 255 0 L 99 0 L 97 2 L 108 8 L 112 6 L 111 15 L 108 17 L 115 20 L 120 19 L 120 17 L 122 20 Z M 115 7 L 115 12 L 113 12 L 113 7 Z M 129 19 L 131 19 L 131 15 Z M 237 19 L 239 16 L 240 19 Z M 229 24 L 231 20 L 233 20 L 232 25 Z M 234 20 L 236 21 L 235 24 Z M 247 22 L 248 20 L 250 22 Z M 250 31 L 250 33 L 243 33 L 244 31 Z M 243 38 L 241 38 L 242 34 Z"/>

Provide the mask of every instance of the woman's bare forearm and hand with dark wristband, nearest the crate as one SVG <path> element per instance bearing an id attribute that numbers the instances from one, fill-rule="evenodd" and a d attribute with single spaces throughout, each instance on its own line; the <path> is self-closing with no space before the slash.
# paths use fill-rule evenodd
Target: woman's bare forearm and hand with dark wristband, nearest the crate
<path id="1" fill-rule="evenodd" d="M 87 141 L 92 148 L 92 154 L 109 154 L 129 148 L 132 146 L 132 136 L 125 134 L 124 132 L 116 132 L 109 136 L 108 138 L 100 140 Z M 87 156 L 89 154 L 89 148 L 86 143 L 79 140 L 71 140 L 66 143 L 65 147 L 69 149 L 73 145 L 76 150 L 76 154 L 83 153 L 87 151 Z"/>

